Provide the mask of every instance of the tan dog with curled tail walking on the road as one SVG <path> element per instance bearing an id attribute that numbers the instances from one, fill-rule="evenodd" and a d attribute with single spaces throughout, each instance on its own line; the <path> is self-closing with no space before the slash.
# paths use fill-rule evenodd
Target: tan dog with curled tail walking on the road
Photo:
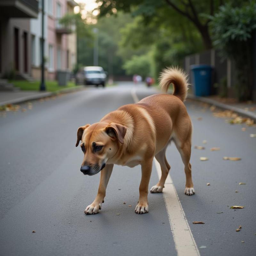
<path id="1" fill-rule="evenodd" d="M 148 183 L 153 158 L 161 165 L 162 176 L 150 190 L 162 192 L 170 170 L 165 151 L 173 140 L 185 165 L 186 195 L 195 193 L 191 178 L 192 124 L 183 101 L 186 99 L 187 76 L 177 68 L 167 68 L 160 77 L 160 87 L 167 92 L 174 84 L 173 95 L 155 94 L 137 104 L 118 108 L 104 116 L 99 123 L 87 124 L 77 131 L 76 147 L 84 152 L 81 172 L 94 175 L 101 171 L 98 194 L 85 214 L 98 213 L 104 202 L 106 188 L 114 164 L 134 167 L 141 165 L 140 197 L 136 213 L 148 212 Z"/>

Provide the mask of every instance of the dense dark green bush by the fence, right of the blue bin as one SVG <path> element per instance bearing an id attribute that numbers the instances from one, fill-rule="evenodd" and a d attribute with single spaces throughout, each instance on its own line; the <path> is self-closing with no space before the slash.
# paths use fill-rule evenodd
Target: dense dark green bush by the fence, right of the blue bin
<path id="1" fill-rule="evenodd" d="M 255 1 L 241 7 L 226 4 L 211 17 L 214 46 L 222 57 L 234 60 L 239 100 L 250 100 L 253 88 L 253 35 L 256 31 Z"/>

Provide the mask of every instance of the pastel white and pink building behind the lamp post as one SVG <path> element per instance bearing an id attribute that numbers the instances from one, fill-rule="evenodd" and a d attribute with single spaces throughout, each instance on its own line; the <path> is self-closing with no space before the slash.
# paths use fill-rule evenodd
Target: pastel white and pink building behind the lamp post
<path id="1" fill-rule="evenodd" d="M 39 79 L 41 75 L 41 1 L 39 1 L 38 19 L 30 20 L 31 27 L 31 56 L 32 76 Z M 76 64 L 76 32 L 59 23 L 68 12 L 73 13 L 77 5 L 74 0 L 44 0 L 44 57 L 45 77 L 48 80 L 56 79 L 58 70 L 72 71 Z"/>

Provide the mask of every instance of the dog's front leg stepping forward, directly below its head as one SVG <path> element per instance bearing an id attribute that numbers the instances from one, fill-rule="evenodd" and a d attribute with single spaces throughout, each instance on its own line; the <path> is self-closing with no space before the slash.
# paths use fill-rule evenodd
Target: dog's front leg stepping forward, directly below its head
<path id="1" fill-rule="evenodd" d="M 101 204 L 104 203 L 104 197 L 106 196 L 106 188 L 108 180 L 111 176 L 114 164 L 106 164 L 105 168 L 100 173 L 100 185 L 98 194 L 92 204 L 88 205 L 84 210 L 85 214 L 96 214 L 101 209 Z"/>

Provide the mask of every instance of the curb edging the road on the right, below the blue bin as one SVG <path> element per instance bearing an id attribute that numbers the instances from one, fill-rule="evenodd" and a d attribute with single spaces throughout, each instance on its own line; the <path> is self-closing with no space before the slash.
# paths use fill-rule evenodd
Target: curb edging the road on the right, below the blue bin
<path id="1" fill-rule="evenodd" d="M 188 94 L 188 99 L 190 100 L 196 100 L 196 101 L 200 101 L 200 102 L 204 102 L 204 103 L 208 103 L 208 104 L 212 104 L 220 109 L 228 109 L 228 110 L 231 110 L 233 112 L 236 112 L 238 113 L 239 115 L 241 116 L 244 116 L 244 117 L 249 117 L 251 118 L 252 120 L 254 120 L 254 122 L 256 122 L 256 114 L 252 113 L 252 112 L 248 112 L 248 111 L 245 111 L 244 109 L 241 109 L 241 108 L 237 108 L 237 107 L 233 107 L 233 106 L 229 106 L 227 104 L 224 104 L 224 103 L 221 103 L 221 102 L 218 102 L 216 100 L 212 100 L 212 99 L 207 99 L 207 98 L 204 98 L 204 97 L 199 97 L 199 96 L 194 96 L 192 94 Z"/>

